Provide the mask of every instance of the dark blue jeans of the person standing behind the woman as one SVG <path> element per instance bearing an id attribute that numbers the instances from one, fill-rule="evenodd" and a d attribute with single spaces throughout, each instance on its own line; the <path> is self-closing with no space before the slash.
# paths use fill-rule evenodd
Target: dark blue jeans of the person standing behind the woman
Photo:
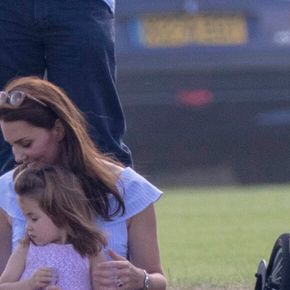
<path id="1" fill-rule="evenodd" d="M 15 76 L 43 77 L 45 69 L 86 114 L 99 149 L 132 166 L 115 88 L 114 16 L 103 1 L 0 0 L 0 89 Z M 0 134 L 0 174 L 9 160 Z"/>

